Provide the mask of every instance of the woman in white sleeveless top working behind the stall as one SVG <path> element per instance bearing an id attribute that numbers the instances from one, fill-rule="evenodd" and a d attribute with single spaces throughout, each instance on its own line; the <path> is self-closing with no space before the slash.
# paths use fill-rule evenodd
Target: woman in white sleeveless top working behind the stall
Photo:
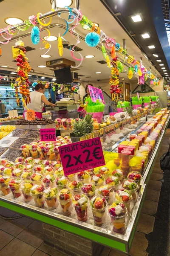
<path id="1" fill-rule="evenodd" d="M 27 105 L 27 108 L 30 110 L 34 110 L 35 111 L 35 116 L 38 118 L 42 118 L 42 111 L 44 108 L 44 105 L 50 106 L 50 107 L 55 107 L 56 105 L 49 102 L 46 98 L 45 98 L 45 86 L 43 84 L 37 84 L 35 86 L 35 91 L 30 93 L 30 99 L 31 99 L 31 103 L 29 103 Z M 24 113 L 23 113 L 23 117 L 25 119 L 26 118 L 26 107 L 24 108 Z"/>

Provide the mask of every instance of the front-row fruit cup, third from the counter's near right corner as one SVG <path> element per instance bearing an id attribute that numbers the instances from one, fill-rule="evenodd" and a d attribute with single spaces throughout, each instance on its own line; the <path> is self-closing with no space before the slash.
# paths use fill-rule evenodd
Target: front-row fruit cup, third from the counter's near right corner
<path id="1" fill-rule="evenodd" d="M 79 221 L 87 221 L 88 219 L 88 197 L 83 194 L 76 194 L 72 199 L 72 204 L 77 213 Z"/>

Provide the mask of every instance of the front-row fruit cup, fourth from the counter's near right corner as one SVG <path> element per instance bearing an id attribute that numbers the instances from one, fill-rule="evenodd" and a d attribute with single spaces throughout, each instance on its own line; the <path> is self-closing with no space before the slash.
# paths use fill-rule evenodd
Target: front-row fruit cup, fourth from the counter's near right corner
<path id="1" fill-rule="evenodd" d="M 58 200 L 62 207 L 63 215 L 71 214 L 71 210 L 72 210 L 71 198 L 72 198 L 72 194 L 69 189 L 62 189 L 59 192 Z"/>

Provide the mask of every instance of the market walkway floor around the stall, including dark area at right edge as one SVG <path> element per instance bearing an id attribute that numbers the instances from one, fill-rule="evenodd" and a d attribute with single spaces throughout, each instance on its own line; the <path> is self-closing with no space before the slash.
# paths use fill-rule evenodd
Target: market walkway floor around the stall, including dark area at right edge
<path id="1" fill-rule="evenodd" d="M 170 172 L 164 173 L 165 181 L 162 183 L 163 171 L 160 169 L 159 164 L 159 157 L 168 151 L 169 144 L 170 129 L 167 129 L 147 186 L 147 195 L 133 239 L 130 256 L 170 256 L 170 246 L 168 247 L 170 243 L 167 233 L 168 228 L 170 230 L 168 226 L 170 223 L 168 221 L 168 217 L 170 219 L 170 216 L 168 216 L 170 206 L 168 198 L 166 198 L 166 193 L 170 189 Z M 0 214 L 7 217 L 17 216 L 15 212 L 2 207 L 0 207 Z M 0 255 L 66 256 L 66 254 L 43 244 L 42 224 L 26 217 L 15 221 L 3 221 L 0 219 Z M 105 247 L 101 256 L 125 255 Z"/>

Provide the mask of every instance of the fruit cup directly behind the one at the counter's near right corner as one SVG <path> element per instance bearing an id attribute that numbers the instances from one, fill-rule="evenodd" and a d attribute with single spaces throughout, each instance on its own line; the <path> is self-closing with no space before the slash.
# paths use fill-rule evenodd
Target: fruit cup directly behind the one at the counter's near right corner
<path id="1" fill-rule="evenodd" d="M 116 201 L 125 204 L 128 212 L 130 211 L 130 203 L 132 202 L 133 198 L 127 189 L 119 189 L 115 193 Z"/>

